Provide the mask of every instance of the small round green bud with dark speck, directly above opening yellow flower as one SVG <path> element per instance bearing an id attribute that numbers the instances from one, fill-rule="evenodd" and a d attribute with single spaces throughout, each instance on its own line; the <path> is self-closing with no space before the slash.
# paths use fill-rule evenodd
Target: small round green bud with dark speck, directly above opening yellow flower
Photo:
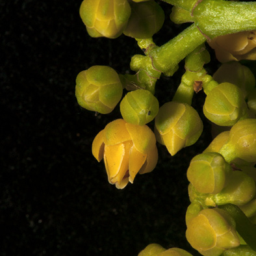
<path id="1" fill-rule="evenodd" d="M 159 101 L 148 90 L 128 92 L 120 103 L 123 119 L 134 125 L 146 125 L 159 112 Z"/>

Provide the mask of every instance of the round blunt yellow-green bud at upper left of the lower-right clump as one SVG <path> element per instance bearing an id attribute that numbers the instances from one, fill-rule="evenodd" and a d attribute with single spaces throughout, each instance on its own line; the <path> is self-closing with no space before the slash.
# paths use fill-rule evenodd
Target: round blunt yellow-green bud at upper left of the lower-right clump
<path id="1" fill-rule="evenodd" d="M 217 194 L 227 183 L 232 168 L 219 153 L 196 155 L 186 173 L 188 181 L 201 193 Z"/>

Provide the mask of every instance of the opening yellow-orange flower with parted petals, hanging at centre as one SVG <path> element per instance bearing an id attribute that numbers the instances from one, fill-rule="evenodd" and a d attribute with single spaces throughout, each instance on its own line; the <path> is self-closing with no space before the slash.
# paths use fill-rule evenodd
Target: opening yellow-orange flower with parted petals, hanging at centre
<path id="1" fill-rule="evenodd" d="M 100 131 L 92 143 L 92 154 L 104 158 L 109 183 L 124 188 L 137 173 L 151 172 L 157 165 L 155 134 L 147 125 L 115 120 Z"/>

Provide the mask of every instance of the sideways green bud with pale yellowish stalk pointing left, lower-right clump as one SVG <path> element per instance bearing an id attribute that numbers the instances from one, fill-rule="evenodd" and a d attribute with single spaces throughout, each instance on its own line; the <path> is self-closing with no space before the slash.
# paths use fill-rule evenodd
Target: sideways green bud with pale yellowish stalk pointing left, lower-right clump
<path id="1" fill-rule="evenodd" d="M 233 205 L 244 205 L 255 196 L 255 181 L 246 173 L 241 171 L 233 171 L 229 177 L 229 183 L 212 199 L 216 205 L 225 205 L 233 203 Z"/>

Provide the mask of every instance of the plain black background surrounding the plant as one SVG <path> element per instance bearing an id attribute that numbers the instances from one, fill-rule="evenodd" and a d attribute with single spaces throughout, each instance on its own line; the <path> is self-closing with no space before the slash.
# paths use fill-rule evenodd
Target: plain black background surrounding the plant
<path id="1" fill-rule="evenodd" d="M 120 113 L 118 107 L 106 116 L 81 109 L 75 77 L 96 64 L 130 72 L 131 57 L 142 51 L 133 38 L 90 38 L 80 5 L 0 1 L 0 255 L 135 256 L 152 242 L 194 253 L 185 238 L 186 169 L 211 141 L 203 92 L 193 100 L 205 122 L 199 141 L 174 157 L 158 144 L 152 173 L 123 190 L 110 185 L 91 145 Z M 166 23 L 154 36 L 158 45 L 184 28 L 169 21 L 172 6 L 161 6 Z M 160 105 L 172 99 L 180 67 L 157 83 Z"/>

